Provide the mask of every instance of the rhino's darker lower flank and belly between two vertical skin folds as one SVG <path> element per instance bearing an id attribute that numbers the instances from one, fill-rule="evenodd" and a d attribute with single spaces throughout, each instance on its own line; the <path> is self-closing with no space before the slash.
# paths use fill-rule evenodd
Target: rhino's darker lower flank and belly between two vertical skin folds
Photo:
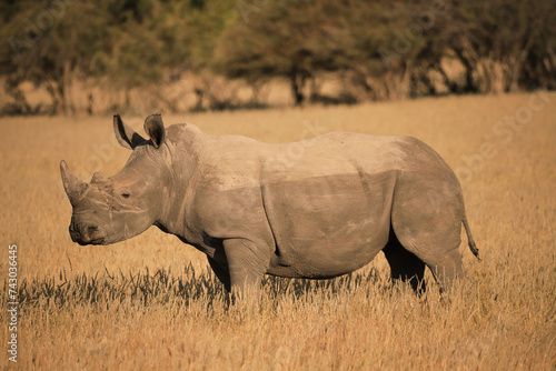
<path id="1" fill-rule="evenodd" d="M 262 184 L 276 241 L 268 273 L 330 278 L 367 264 L 388 241 L 394 182 L 384 172 Z"/>

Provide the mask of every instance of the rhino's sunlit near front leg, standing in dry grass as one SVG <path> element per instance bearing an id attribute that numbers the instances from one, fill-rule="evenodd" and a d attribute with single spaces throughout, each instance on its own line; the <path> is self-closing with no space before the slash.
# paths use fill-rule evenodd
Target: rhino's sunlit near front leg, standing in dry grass
<path id="1" fill-rule="evenodd" d="M 269 265 L 266 250 L 249 240 L 230 239 L 224 241 L 224 251 L 232 298 L 258 303 L 261 280 Z"/>

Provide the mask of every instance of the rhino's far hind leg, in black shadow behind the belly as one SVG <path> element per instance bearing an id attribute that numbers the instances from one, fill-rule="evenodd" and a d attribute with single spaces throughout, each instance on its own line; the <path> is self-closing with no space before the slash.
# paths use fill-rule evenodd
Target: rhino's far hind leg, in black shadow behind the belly
<path id="1" fill-rule="evenodd" d="M 388 243 L 383 252 L 390 265 L 393 282 L 407 282 L 417 294 L 424 294 L 425 263 L 399 243 L 394 230 L 390 230 Z"/>

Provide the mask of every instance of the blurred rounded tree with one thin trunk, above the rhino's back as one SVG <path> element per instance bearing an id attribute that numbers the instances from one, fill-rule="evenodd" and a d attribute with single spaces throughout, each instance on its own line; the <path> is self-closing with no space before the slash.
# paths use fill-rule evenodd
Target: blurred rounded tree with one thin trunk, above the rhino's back
<path id="1" fill-rule="evenodd" d="M 340 46 L 347 10 L 332 1 L 288 0 L 268 2 L 248 22 L 238 14 L 222 33 L 214 68 L 229 78 L 286 78 L 300 104 L 306 82 L 318 71 L 346 68 Z"/>

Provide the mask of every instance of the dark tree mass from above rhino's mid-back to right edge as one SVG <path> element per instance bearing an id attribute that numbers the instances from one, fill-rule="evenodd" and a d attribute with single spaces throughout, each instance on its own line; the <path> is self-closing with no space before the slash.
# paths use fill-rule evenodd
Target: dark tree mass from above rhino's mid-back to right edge
<path id="1" fill-rule="evenodd" d="M 348 71 L 370 99 L 435 94 L 431 72 L 449 92 L 554 89 L 555 17 L 545 0 L 269 2 L 224 32 L 217 64 L 231 78 L 287 77 L 297 103 L 328 70 Z M 463 82 L 445 59 L 464 66 Z"/>

